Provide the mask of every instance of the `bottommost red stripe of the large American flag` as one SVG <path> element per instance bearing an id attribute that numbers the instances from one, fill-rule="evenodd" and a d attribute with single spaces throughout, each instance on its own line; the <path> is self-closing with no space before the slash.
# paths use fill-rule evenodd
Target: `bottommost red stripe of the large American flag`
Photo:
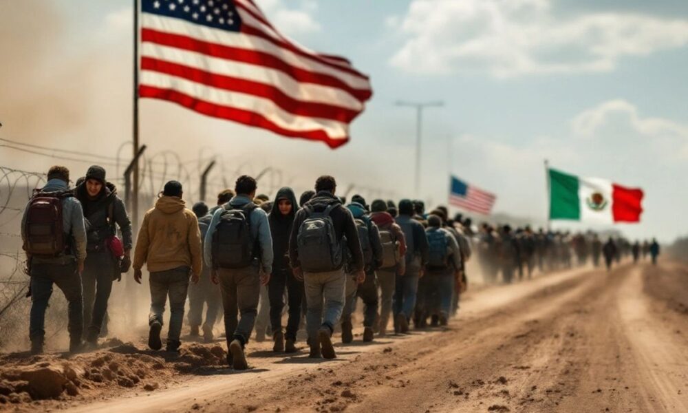
<path id="1" fill-rule="evenodd" d="M 336 139 L 330 138 L 324 129 L 296 130 L 281 127 L 258 112 L 206 102 L 200 98 L 183 94 L 174 89 L 162 89 L 149 85 L 141 85 L 139 87 L 139 94 L 141 97 L 145 98 L 169 100 L 184 107 L 188 107 L 189 109 L 193 109 L 195 112 L 213 116 L 213 118 L 223 118 L 227 120 L 233 120 L 238 123 L 243 123 L 245 125 L 261 127 L 283 136 L 288 136 L 291 138 L 304 138 L 308 140 L 319 140 L 321 142 L 325 142 L 327 146 L 333 149 L 344 145 L 349 140 L 348 136 L 343 136 L 342 138 Z"/>

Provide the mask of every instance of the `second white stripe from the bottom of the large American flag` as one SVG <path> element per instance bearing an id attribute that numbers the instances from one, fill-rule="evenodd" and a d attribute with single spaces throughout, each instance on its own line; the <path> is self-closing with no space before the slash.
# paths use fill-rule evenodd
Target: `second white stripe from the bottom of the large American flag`
<path id="1" fill-rule="evenodd" d="M 177 63 L 203 72 L 263 83 L 278 88 L 294 100 L 330 104 L 333 107 L 350 109 L 352 112 L 360 112 L 363 109 L 363 103 L 360 100 L 342 89 L 314 83 L 299 83 L 280 70 L 273 70 L 268 67 L 264 67 L 264 70 L 255 70 L 255 65 L 248 63 L 228 61 L 191 50 L 155 43 L 143 43 L 141 54 L 143 55 L 142 60 Z M 144 65 L 143 62 L 142 65 Z"/>

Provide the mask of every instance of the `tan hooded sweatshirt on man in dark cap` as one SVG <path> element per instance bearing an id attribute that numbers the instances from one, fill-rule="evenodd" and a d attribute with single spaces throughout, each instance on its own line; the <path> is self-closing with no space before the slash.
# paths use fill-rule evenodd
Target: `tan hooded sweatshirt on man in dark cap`
<path id="1" fill-rule="evenodd" d="M 142 268 L 144 262 L 151 273 L 189 266 L 195 275 L 201 275 L 198 222 L 196 215 L 184 208 L 182 199 L 161 196 L 155 208 L 144 216 L 136 240 L 133 268 Z"/>

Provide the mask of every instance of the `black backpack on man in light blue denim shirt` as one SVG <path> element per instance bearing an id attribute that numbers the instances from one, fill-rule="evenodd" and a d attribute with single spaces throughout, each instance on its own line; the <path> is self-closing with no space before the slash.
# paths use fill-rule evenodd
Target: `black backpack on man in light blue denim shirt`
<path id="1" fill-rule="evenodd" d="M 250 215 L 257 208 L 248 202 L 239 209 L 222 211 L 213 233 L 213 267 L 246 268 L 256 258 L 257 248 L 250 231 Z"/>

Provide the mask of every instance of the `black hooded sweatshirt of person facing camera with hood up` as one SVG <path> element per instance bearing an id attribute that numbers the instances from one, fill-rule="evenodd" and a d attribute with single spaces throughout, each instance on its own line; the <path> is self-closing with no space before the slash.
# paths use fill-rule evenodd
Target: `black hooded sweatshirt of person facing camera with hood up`
<path id="1" fill-rule="evenodd" d="M 289 215 L 282 215 L 279 211 L 279 200 L 289 200 L 292 203 L 292 211 Z M 275 195 L 275 205 L 268 215 L 270 222 L 270 234 L 272 234 L 272 268 L 275 271 L 289 270 L 289 236 L 292 233 L 294 217 L 297 215 L 297 197 L 291 188 L 282 188 Z"/>

